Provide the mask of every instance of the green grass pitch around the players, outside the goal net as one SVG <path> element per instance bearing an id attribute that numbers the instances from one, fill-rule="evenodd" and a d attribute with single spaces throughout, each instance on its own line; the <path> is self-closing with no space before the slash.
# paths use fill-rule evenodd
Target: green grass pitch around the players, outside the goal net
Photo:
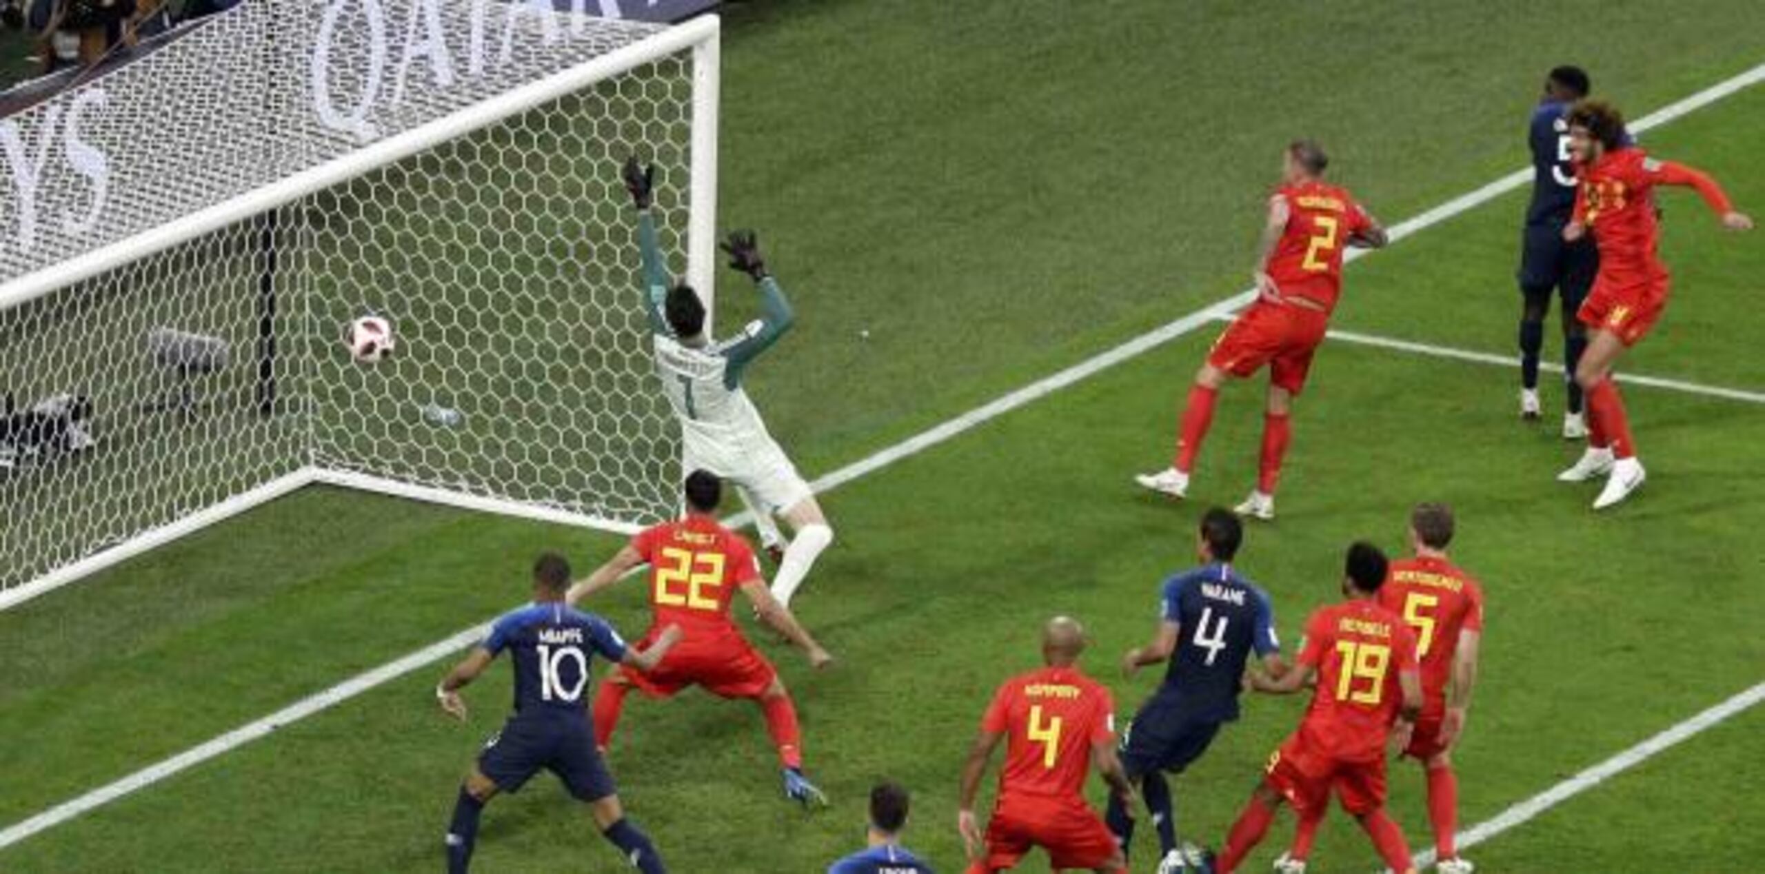
<path id="1" fill-rule="evenodd" d="M 731 4 L 722 221 L 762 230 L 801 316 L 752 392 L 805 471 L 831 470 L 1244 288 L 1294 136 L 1329 145 L 1336 178 L 1387 222 L 1521 166 L 1532 94 L 1566 60 L 1641 115 L 1765 60 L 1765 37 L 1749 0 Z M 1756 88 L 1645 136 L 1765 212 L 1760 141 Z M 1521 207 L 1506 196 L 1350 267 L 1338 327 L 1507 353 Z M 1691 194 L 1664 207 L 1677 297 L 1629 367 L 1760 388 L 1761 237 L 1717 233 Z M 725 325 L 752 309 L 722 302 Z M 960 757 L 994 685 L 1036 662 L 1048 614 L 1089 623 L 1085 667 L 1126 717 L 1156 680 L 1121 680 L 1117 657 L 1153 630 L 1200 510 L 1253 477 L 1260 390 L 1241 385 L 1190 503 L 1128 482 L 1168 452 L 1213 334 L 828 494 L 840 539 L 798 606 L 840 662 L 814 674 L 759 639 L 833 809 L 778 798 L 754 708 L 634 701 L 611 765 L 672 870 L 822 870 L 861 844 L 879 777 L 916 793 L 909 846 L 960 870 Z M 1652 478 L 1594 517 L 1592 491 L 1551 482 L 1571 448 L 1521 426 L 1513 396 L 1513 371 L 1326 346 L 1281 519 L 1251 528 L 1241 560 L 1292 639 L 1333 597 L 1347 540 L 1396 549 L 1414 501 L 1454 503 L 1454 553 L 1490 604 L 1458 752 L 1467 825 L 1765 680 L 1765 408 L 1629 388 Z M 484 622 L 524 597 L 540 549 L 588 567 L 616 546 L 309 489 L 0 613 L 0 823 Z M 593 607 L 628 632 L 646 622 L 637 586 Z M 498 664 L 461 727 L 434 708 L 441 671 L 4 849 L 0 870 L 436 870 L 454 787 L 508 696 Z M 1299 706 L 1250 699 L 1174 782 L 1184 837 L 1220 842 Z M 1744 713 L 1467 855 L 1490 872 L 1747 870 L 1761 729 L 1765 713 Z M 1396 766 L 1393 809 L 1417 849 L 1421 798 L 1419 770 Z M 1283 817 L 1246 870 L 1288 833 Z M 477 863 L 618 869 L 545 779 L 491 805 Z M 1315 869 L 1377 858 L 1334 814 Z"/>

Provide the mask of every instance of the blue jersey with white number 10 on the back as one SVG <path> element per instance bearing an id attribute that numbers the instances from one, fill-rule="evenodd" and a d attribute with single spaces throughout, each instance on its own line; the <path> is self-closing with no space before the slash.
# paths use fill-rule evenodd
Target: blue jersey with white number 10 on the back
<path id="1" fill-rule="evenodd" d="M 590 660 L 625 659 L 625 641 L 607 620 L 563 602 L 528 604 L 505 613 L 484 639 L 491 655 L 512 653 L 515 715 L 568 715 L 582 719 L 588 701 Z"/>

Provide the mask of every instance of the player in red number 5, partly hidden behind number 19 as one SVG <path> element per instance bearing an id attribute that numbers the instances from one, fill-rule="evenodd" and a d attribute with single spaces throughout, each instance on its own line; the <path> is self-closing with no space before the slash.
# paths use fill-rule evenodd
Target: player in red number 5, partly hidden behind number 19
<path id="1" fill-rule="evenodd" d="M 1416 655 L 1423 666 L 1423 713 L 1403 749 L 1423 763 L 1428 777 L 1428 819 L 1435 833 L 1435 865 L 1440 874 L 1470 874 L 1476 865 L 1458 856 L 1458 775 L 1449 750 L 1465 729 L 1465 710 L 1477 682 L 1477 646 L 1483 637 L 1483 588 L 1446 554 L 1453 542 L 1453 510 L 1423 503 L 1410 512 L 1414 558 L 1391 563 L 1378 604 L 1403 616 L 1416 632 Z M 1276 870 L 1304 874 L 1311 840 L 1324 810 L 1299 819 L 1294 848 Z"/>

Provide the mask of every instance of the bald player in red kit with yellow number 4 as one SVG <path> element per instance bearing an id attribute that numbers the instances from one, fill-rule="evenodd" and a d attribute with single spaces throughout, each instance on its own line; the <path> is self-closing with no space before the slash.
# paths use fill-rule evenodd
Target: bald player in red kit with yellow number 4
<path id="1" fill-rule="evenodd" d="M 1096 810 L 1085 805 L 1093 766 L 1133 810 L 1133 784 L 1115 757 L 1115 703 L 1078 669 L 1085 630 L 1055 616 L 1041 630 L 1047 667 L 1013 676 L 994 694 L 981 733 L 962 768 L 962 810 L 957 828 L 969 849 L 969 874 L 1015 867 L 1033 848 L 1048 851 L 1052 867 L 1126 874 L 1128 860 Z M 974 819 L 987 759 L 1006 742 L 999 800 L 987 833 Z"/>

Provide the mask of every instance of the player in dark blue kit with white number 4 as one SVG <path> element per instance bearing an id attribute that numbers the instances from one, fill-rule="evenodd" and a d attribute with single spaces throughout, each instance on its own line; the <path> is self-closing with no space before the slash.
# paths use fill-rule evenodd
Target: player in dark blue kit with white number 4
<path id="1" fill-rule="evenodd" d="M 1181 773 L 1213 743 L 1220 726 L 1237 719 L 1244 662 L 1255 652 L 1264 667 L 1287 671 L 1274 636 L 1274 609 L 1255 583 L 1232 569 L 1244 540 L 1239 517 L 1223 509 L 1207 510 L 1200 524 L 1202 567 L 1165 581 L 1160 597 L 1158 636 L 1128 650 L 1123 671 L 1133 676 L 1144 666 L 1167 662 L 1165 682 L 1135 713 L 1121 738 L 1121 761 L 1128 779 L 1140 784 L 1145 807 L 1158 828 L 1163 858 L 1160 874 L 1198 863 L 1177 848 L 1175 812 L 1165 772 Z M 1110 830 L 1126 855 L 1133 840 L 1133 817 L 1110 800 Z"/>

